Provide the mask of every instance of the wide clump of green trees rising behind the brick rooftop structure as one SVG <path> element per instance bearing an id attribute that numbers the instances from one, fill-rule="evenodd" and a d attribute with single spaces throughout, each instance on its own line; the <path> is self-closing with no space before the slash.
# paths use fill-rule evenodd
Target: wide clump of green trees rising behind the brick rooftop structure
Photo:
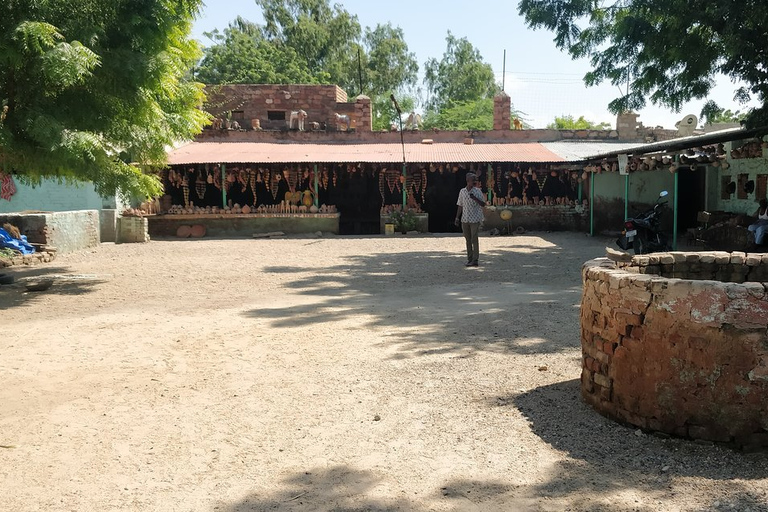
<path id="1" fill-rule="evenodd" d="M 405 36 L 392 24 L 367 27 L 357 16 L 329 0 L 256 0 L 263 26 L 237 18 L 223 33 L 206 34 L 198 79 L 208 84 L 337 84 L 373 102 L 374 129 L 389 129 L 397 113 L 389 100 L 396 94 L 404 111 L 414 108 L 408 91 L 419 66 Z"/>

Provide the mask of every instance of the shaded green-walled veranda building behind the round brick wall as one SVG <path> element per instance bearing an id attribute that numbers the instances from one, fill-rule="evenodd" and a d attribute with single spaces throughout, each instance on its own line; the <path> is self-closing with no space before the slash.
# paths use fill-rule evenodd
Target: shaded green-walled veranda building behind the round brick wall
<path id="1" fill-rule="evenodd" d="M 589 158 L 594 181 L 593 232 L 619 229 L 650 208 L 662 190 L 661 219 L 670 245 L 727 251 L 764 251 L 750 226 L 768 196 L 768 128 L 727 129 L 644 144 Z"/>

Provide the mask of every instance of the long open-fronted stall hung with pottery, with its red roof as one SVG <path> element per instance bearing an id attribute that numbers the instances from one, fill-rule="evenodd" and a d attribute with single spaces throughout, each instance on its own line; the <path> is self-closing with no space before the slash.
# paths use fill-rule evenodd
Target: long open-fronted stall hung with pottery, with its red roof
<path id="1" fill-rule="evenodd" d="M 150 224 L 168 235 L 174 220 L 206 221 L 213 235 L 247 231 L 378 234 L 393 213 L 411 229 L 454 232 L 456 197 L 478 175 L 486 224 L 586 229 L 580 171 L 537 143 L 406 144 L 192 143 L 170 155 L 161 215 Z M 470 162 L 470 163 L 468 163 Z M 554 212 L 554 213 L 552 213 Z M 402 217 L 402 216 L 401 216 Z M 215 221 L 215 222 L 212 222 Z M 542 222 L 544 225 L 542 225 Z"/>

